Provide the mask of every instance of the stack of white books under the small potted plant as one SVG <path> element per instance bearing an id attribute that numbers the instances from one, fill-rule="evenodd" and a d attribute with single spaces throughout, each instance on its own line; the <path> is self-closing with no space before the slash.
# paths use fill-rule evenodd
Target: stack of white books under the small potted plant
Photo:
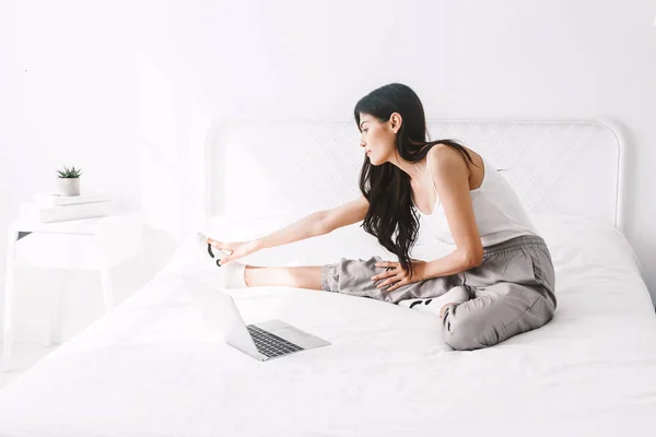
<path id="1" fill-rule="evenodd" d="M 21 217 L 31 222 L 49 223 L 67 220 L 101 217 L 112 213 L 112 199 L 102 191 L 62 196 L 38 193 L 34 202 L 21 205 Z"/>

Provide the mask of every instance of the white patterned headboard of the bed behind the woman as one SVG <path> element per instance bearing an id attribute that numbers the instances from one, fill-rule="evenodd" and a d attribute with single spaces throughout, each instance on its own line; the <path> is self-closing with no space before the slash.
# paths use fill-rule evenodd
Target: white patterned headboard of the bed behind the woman
<path id="1" fill-rule="evenodd" d="M 599 218 L 623 231 L 624 145 L 599 121 L 426 120 L 430 140 L 481 153 L 535 213 Z M 360 196 L 354 120 L 216 120 L 206 143 L 206 217 L 319 211 Z"/>

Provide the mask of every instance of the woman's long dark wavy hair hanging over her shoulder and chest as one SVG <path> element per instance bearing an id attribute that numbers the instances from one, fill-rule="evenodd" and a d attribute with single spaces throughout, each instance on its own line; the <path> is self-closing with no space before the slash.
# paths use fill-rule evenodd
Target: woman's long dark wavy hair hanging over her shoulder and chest
<path id="1" fill-rule="evenodd" d="M 407 85 L 390 83 L 372 91 L 358 101 L 353 113 L 361 132 L 361 113 L 380 122 L 389 120 L 393 113 L 398 113 L 402 120 L 396 135 L 396 153 L 407 162 L 417 163 L 424 158 L 433 145 L 446 144 L 457 150 L 465 163 L 469 160 L 473 164 L 467 150 L 456 140 L 425 141 L 429 134 L 423 105 Z M 412 208 L 410 176 L 391 163 L 373 166 L 365 155 L 360 170 L 360 191 L 370 202 L 361 226 L 395 253 L 403 269 L 412 274 L 409 252 L 417 240 L 419 215 Z"/>

